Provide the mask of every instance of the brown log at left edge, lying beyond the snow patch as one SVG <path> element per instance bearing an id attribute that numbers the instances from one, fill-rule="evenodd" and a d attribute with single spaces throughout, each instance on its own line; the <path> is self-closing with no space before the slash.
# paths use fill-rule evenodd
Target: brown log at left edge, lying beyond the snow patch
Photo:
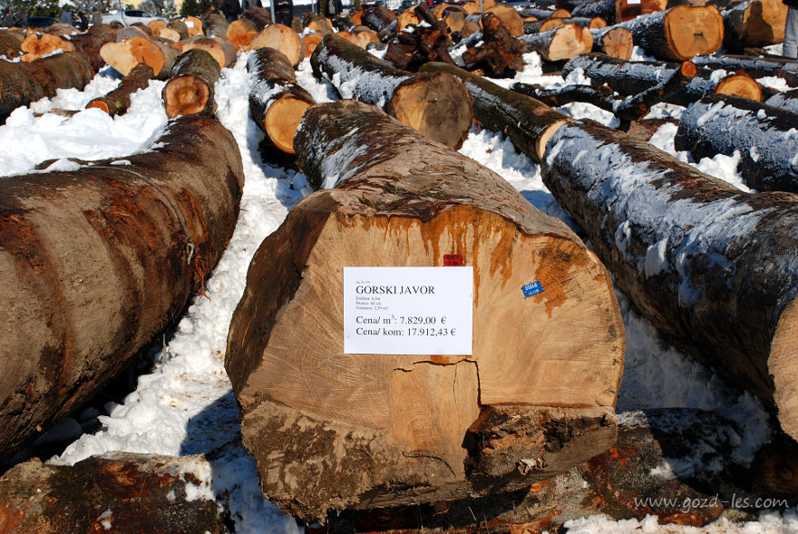
<path id="1" fill-rule="evenodd" d="M 0 61 L 0 121 L 16 108 L 47 97 L 58 89 L 83 87 L 92 81 L 92 65 L 82 53 L 51 55 L 31 63 Z"/>

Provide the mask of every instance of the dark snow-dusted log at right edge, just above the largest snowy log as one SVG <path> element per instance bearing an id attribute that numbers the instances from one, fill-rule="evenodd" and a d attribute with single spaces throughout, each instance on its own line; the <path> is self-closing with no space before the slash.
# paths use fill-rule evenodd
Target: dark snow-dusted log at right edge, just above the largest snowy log
<path id="1" fill-rule="evenodd" d="M 745 183 L 764 191 L 798 193 L 798 113 L 745 98 L 713 95 L 682 115 L 676 150 L 700 160 L 739 152 L 737 170 Z"/>

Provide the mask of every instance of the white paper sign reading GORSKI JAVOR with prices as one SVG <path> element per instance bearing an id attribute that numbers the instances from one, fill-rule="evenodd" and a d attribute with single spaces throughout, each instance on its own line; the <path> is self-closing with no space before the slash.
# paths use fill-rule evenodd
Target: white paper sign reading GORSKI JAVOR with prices
<path id="1" fill-rule="evenodd" d="M 473 267 L 344 267 L 346 354 L 471 355 Z"/>

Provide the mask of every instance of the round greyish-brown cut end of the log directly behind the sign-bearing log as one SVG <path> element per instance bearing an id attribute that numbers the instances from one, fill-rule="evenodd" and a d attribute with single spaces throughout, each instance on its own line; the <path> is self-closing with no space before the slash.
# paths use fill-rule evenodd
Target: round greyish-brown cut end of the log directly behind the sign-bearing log
<path id="1" fill-rule="evenodd" d="M 459 149 L 471 131 L 471 96 L 449 73 L 424 73 L 401 83 L 385 111 L 427 137 Z"/>

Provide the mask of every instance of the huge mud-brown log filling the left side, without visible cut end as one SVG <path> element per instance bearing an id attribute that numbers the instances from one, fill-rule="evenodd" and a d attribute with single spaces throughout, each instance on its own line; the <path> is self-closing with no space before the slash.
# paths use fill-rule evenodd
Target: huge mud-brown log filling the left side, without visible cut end
<path id="1" fill-rule="evenodd" d="M 0 457 L 180 316 L 232 234 L 243 176 L 229 131 L 183 117 L 125 164 L 0 180 Z"/>

